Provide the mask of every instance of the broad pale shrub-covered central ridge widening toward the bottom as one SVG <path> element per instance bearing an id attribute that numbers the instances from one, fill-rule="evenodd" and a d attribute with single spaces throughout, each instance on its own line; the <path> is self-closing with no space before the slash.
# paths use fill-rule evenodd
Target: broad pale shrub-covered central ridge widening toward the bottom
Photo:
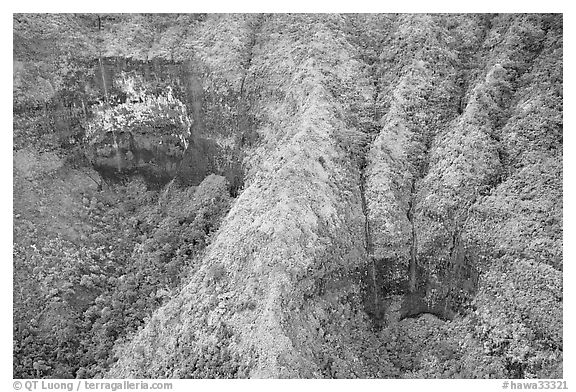
<path id="1" fill-rule="evenodd" d="M 112 376 L 354 377 L 386 368 L 385 353 L 364 341 L 364 217 L 349 150 L 359 131 L 342 115 L 365 91 L 338 39 L 342 24 L 263 22 L 247 87 L 265 97 L 254 108 L 262 142 L 246 187 L 200 271 L 121 351 Z"/>

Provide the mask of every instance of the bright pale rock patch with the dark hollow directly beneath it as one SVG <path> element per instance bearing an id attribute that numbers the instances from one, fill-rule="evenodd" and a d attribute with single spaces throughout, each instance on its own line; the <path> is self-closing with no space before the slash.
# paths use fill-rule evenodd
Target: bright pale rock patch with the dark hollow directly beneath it
<path id="1" fill-rule="evenodd" d="M 124 102 L 103 104 L 86 121 L 90 161 L 103 172 L 140 170 L 160 182 L 173 178 L 197 120 L 188 115 L 170 85 L 151 94 L 143 80 L 126 73 L 116 83 Z M 200 179 L 206 175 L 202 174 Z"/>

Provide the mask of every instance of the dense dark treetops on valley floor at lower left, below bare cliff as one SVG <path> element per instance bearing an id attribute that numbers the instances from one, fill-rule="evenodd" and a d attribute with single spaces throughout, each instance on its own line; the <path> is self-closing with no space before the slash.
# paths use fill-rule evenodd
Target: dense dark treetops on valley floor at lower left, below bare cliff
<path id="1" fill-rule="evenodd" d="M 101 375 L 114 362 L 114 344 L 197 268 L 194 260 L 230 206 L 226 180 L 217 176 L 162 193 L 138 180 L 88 189 L 64 190 L 66 208 L 81 221 L 79 237 L 44 231 L 47 217 L 15 222 L 14 371 L 21 377 Z M 58 208 L 54 196 L 39 203 Z"/>

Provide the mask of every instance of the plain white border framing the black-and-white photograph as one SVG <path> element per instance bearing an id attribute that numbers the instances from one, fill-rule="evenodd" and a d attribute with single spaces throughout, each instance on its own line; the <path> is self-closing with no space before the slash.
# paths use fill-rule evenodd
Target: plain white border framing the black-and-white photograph
<path id="1" fill-rule="evenodd" d="M 160 2 L 142 5 L 136 1 L 112 1 L 102 0 L 97 2 L 71 2 L 71 1 L 26 1 L 3 4 L 8 8 L 7 12 L 0 14 L 0 26 L 2 28 L 2 45 L 6 57 L 12 53 L 12 13 L 15 12 L 562 12 L 564 13 L 564 379 L 568 381 L 569 388 L 575 388 L 576 380 L 572 377 L 570 369 L 574 366 L 574 278 L 575 259 L 575 230 L 574 211 L 576 206 L 572 202 L 576 200 L 574 192 L 573 169 L 576 154 L 574 154 L 574 45 L 572 37 L 576 37 L 574 13 L 568 7 L 568 2 L 561 1 L 514 1 L 504 2 L 497 0 L 483 0 L 475 2 L 454 1 L 394 1 L 384 0 L 364 1 L 354 0 L 349 2 L 334 1 L 306 1 L 292 0 L 282 4 L 247 1 L 206 1 L 196 3 L 194 1 Z M 0 287 L 2 287 L 2 306 L 6 312 L 5 322 L 1 323 L 0 339 L 0 370 L 2 384 L 0 389 L 11 391 L 12 389 L 12 63 L 8 59 L 2 62 L 1 78 L 1 108 L 3 130 L 0 131 L 0 172 L 2 174 L 2 208 L 0 218 L 2 232 L 0 235 L 0 249 L 5 256 L 1 262 Z M 576 130 L 575 130 L 576 131 Z M 10 191 L 9 191 L 10 190 Z M 572 365 L 570 365 L 572 364 Z M 573 370 L 572 370 L 573 372 Z M 174 380 L 175 391 L 188 391 L 194 388 L 234 388 L 266 390 L 312 390 L 323 387 L 374 389 L 383 391 L 386 388 L 392 390 L 442 390 L 442 391 L 490 391 L 502 390 L 502 382 L 497 380 L 262 380 L 262 381 L 233 381 L 233 380 L 204 380 L 183 381 Z"/>

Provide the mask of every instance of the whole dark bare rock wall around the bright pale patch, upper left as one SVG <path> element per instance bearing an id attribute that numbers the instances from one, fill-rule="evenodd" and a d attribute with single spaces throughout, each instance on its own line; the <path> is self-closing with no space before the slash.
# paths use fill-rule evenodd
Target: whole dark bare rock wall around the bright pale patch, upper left
<path id="1" fill-rule="evenodd" d="M 209 72 L 200 59 L 103 59 L 95 80 L 109 97 L 89 106 L 83 122 L 93 165 L 104 175 L 138 174 L 159 185 L 174 178 L 197 185 L 218 173 L 238 188 L 242 154 L 228 129 L 238 120 L 226 119 L 229 98 L 204 94 Z"/>

